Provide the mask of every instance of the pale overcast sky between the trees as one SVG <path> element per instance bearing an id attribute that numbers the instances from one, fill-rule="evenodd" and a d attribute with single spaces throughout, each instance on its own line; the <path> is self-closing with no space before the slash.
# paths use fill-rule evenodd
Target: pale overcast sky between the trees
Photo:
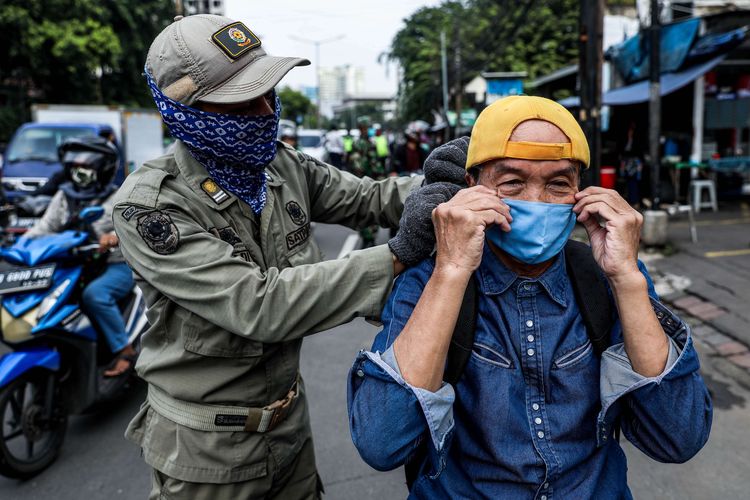
<path id="1" fill-rule="evenodd" d="M 243 21 L 263 42 L 269 54 L 310 59 L 311 66 L 295 68 L 281 84 L 315 86 L 315 48 L 292 39 L 323 40 L 344 35 L 320 46 L 320 65 L 351 64 L 365 69 L 365 91 L 396 92 L 395 68 L 378 63 L 403 19 L 423 6 L 441 0 L 225 0 L 226 15 Z"/>

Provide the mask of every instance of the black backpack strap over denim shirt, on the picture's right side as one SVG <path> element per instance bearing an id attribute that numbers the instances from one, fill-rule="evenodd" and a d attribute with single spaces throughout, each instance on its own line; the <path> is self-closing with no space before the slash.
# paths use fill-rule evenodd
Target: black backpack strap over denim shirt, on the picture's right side
<path id="1" fill-rule="evenodd" d="M 594 352 L 601 355 L 610 346 L 613 317 L 606 278 L 594 260 L 591 247 L 579 241 L 569 240 L 565 245 L 565 265 L 586 332 Z"/>

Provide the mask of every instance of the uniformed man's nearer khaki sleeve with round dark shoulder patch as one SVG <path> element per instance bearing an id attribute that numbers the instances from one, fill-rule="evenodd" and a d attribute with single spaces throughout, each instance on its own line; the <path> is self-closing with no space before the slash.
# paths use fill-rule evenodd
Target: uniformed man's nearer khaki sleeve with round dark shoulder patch
<path id="1" fill-rule="evenodd" d="M 188 311 L 237 335 L 282 342 L 357 316 L 379 316 L 393 280 L 386 245 L 348 258 L 262 270 L 233 257 L 177 207 L 118 204 L 114 225 L 130 267 Z"/>

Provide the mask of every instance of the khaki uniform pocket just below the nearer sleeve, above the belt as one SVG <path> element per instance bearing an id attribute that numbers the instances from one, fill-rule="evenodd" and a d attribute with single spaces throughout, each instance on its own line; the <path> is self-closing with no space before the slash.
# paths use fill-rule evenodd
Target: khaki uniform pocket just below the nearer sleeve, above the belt
<path id="1" fill-rule="evenodd" d="M 196 317 L 191 319 L 182 328 L 186 351 L 218 358 L 245 358 L 263 354 L 262 342 L 235 335 L 204 320 L 197 322 Z"/>

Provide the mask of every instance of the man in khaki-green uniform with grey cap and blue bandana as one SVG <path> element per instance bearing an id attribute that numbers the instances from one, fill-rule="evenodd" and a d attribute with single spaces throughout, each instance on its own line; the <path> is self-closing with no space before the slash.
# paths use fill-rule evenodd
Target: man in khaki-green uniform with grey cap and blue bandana
<path id="1" fill-rule="evenodd" d="M 113 220 L 151 325 L 136 366 L 148 399 L 126 436 L 153 499 L 317 498 L 302 338 L 378 316 L 403 263 L 425 256 L 406 235 L 321 262 L 312 221 L 393 226 L 421 179 L 358 179 L 277 143 L 274 86 L 306 64 L 210 15 L 177 18 L 149 50 L 178 141 L 126 179 Z M 415 205 L 428 223 L 430 196 Z"/>

